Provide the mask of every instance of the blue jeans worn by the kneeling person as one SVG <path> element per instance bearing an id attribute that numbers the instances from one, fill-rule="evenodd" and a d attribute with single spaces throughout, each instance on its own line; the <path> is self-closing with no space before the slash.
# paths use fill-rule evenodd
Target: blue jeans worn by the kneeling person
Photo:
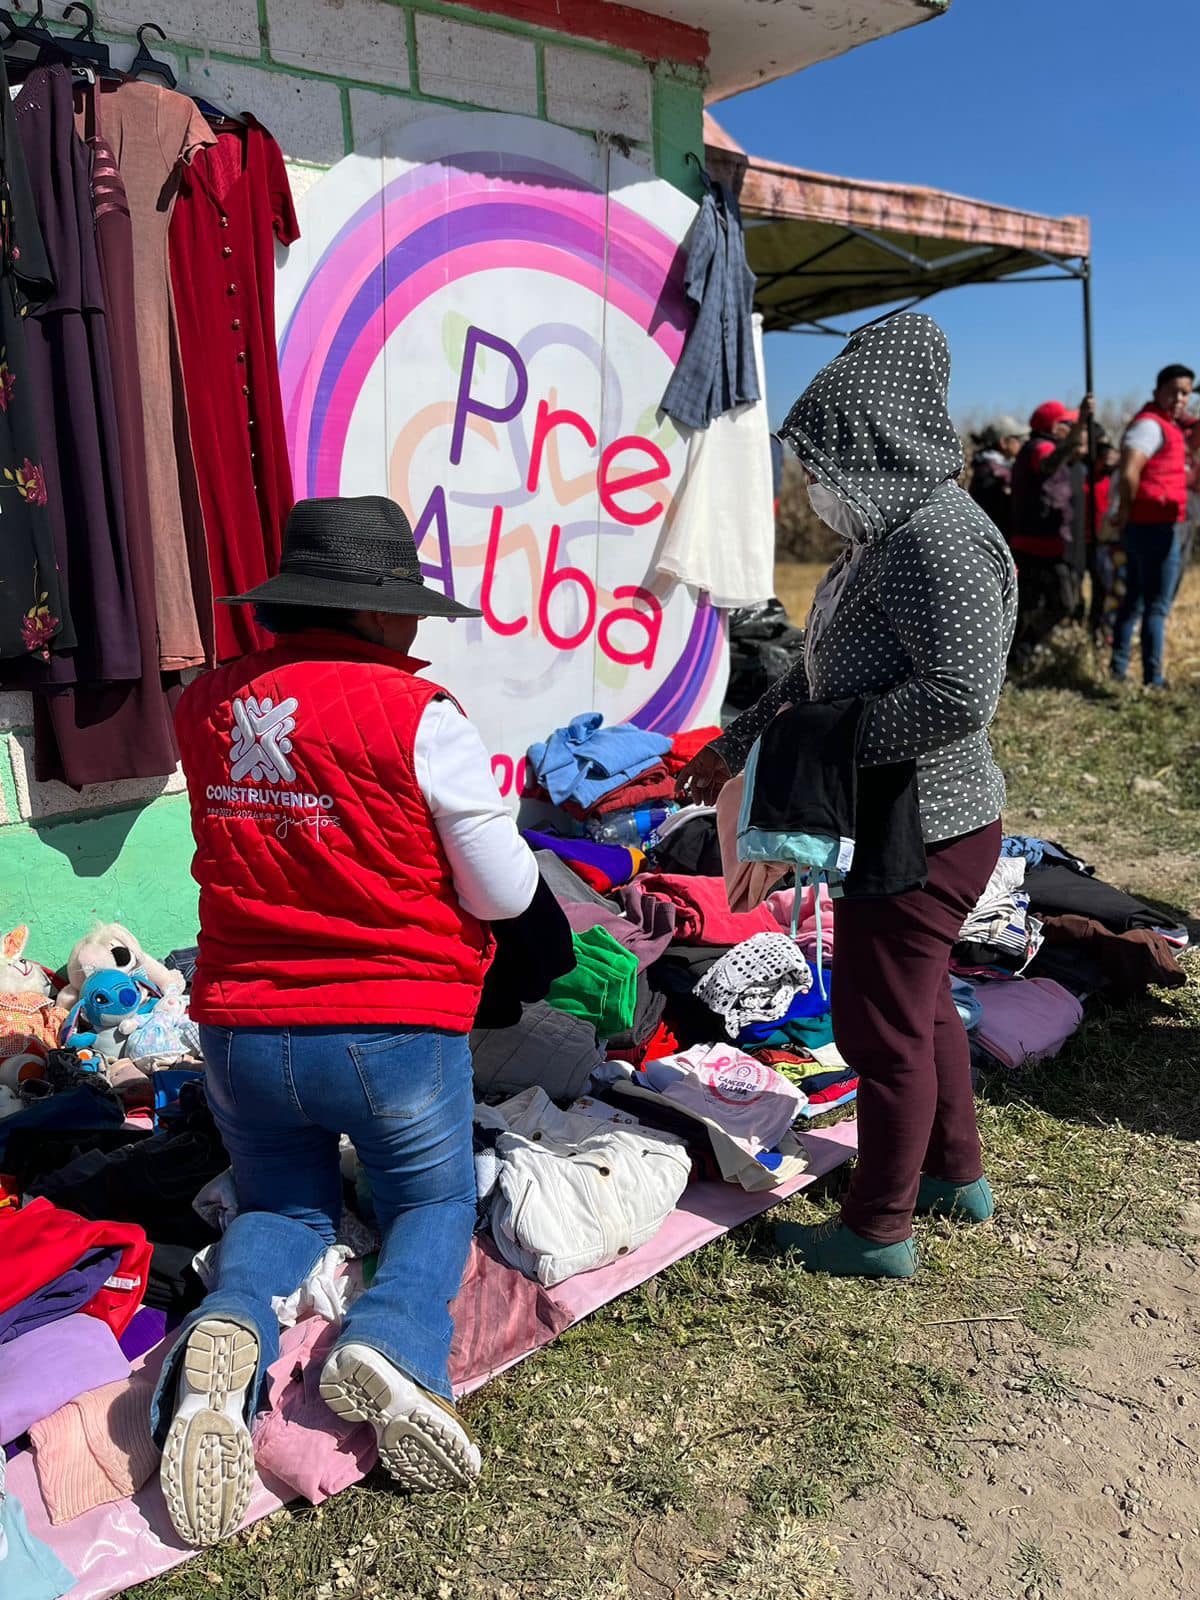
<path id="1" fill-rule="evenodd" d="M 278 1358 L 270 1302 L 291 1294 L 338 1235 L 342 1133 L 366 1171 L 382 1248 L 338 1342 L 366 1344 L 450 1398 L 450 1301 L 475 1226 L 466 1037 L 402 1027 L 205 1027 L 200 1042 L 240 1210 L 221 1240 L 216 1286 L 186 1318 L 163 1365 L 150 1413 L 155 1437 L 162 1442 L 170 1426 L 178 1360 L 203 1317 L 256 1334 L 256 1408 L 262 1374 Z"/>

